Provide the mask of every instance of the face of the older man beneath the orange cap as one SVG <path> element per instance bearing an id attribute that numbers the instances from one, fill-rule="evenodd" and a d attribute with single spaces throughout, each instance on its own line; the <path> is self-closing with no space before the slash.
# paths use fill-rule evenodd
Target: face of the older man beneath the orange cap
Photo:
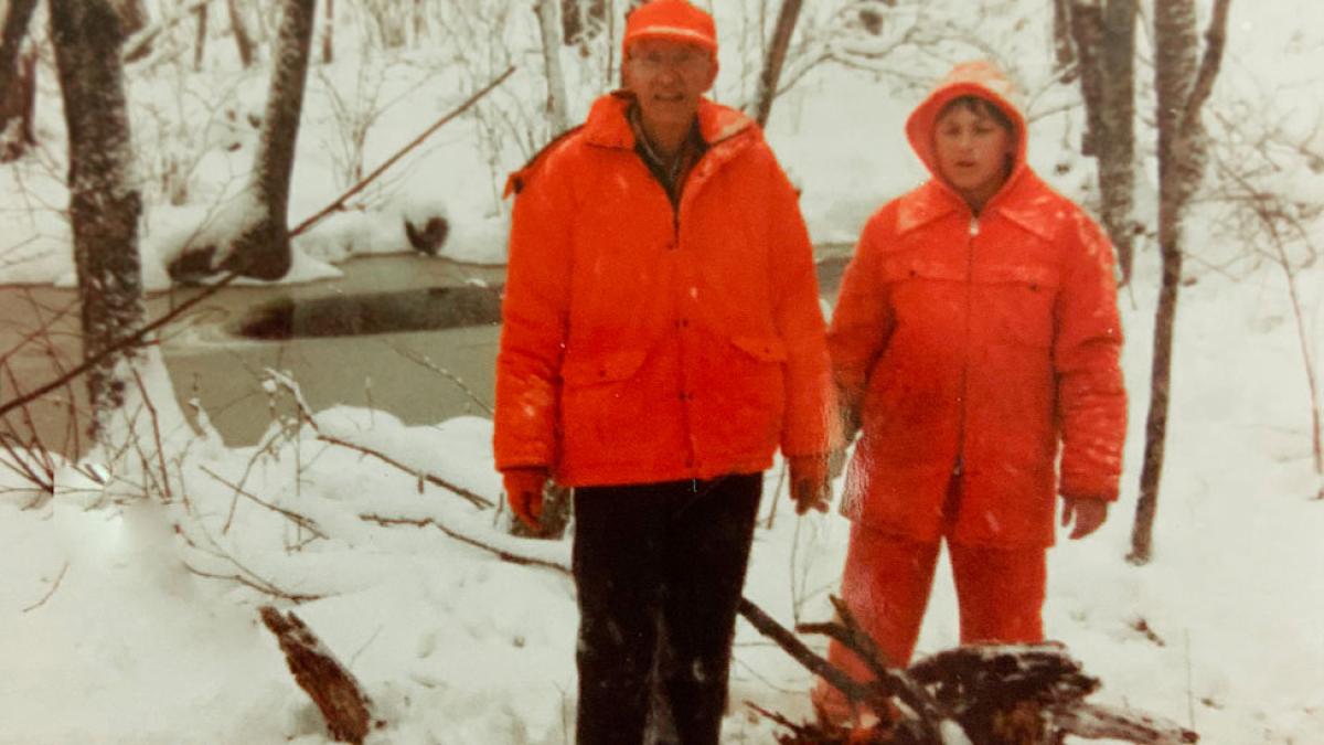
<path id="1" fill-rule="evenodd" d="M 621 72 L 625 89 L 639 101 L 643 125 L 657 130 L 688 127 L 718 69 L 702 46 L 641 38 L 630 45 Z"/>

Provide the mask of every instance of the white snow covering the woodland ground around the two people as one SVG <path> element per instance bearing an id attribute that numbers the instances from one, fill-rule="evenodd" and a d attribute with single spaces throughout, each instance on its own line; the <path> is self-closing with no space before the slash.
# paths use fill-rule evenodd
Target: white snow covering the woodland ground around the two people
<path id="1" fill-rule="evenodd" d="M 1001 33 L 989 33 L 989 41 L 1035 48 L 1045 13 L 1031 12 L 1029 1 L 998 4 L 1018 11 L 994 25 L 1016 29 L 1019 46 Z M 1234 3 L 1230 57 L 1215 101 L 1241 95 L 1280 106 L 1274 110 L 1283 121 L 1308 131 L 1300 122 L 1319 121 L 1320 101 L 1299 93 L 1317 89 L 1313 70 L 1324 69 L 1324 56 L 1320 42 L 1299 29 L 1321 20 L 1324 11 L 1305 0 L 1254 9 Z M 737 21 L 719 15 L 724 42 L 728 29 L 741 28 Z M 508 33 L 527 30 L 514 24 Z M 220 38 L 212 48 L 222 54 Z M 1038 49 L 1039 57 L 1017 57 L 1018 70 L 1025 87 L 1038 91 L 1031 110 L 1051 111 L 1071 90 L 1042 84 L 1049 53 Z M 441 60 L 413 52 L 365 69 L 346 49 L 340 62 L 314 72 L 294 221 L 348 186 L 336 106 L 381 109 L 364 151 L 371 168 L 486 80 L 438 74 Z M 739 66 L 724 57 L 723 70 L 733 82 L 718 94 L 737 99 Z M 140 148 L 142 170 L 159 196 L 144 236 L 150 285 L 164 286 L 160 257 L 177 249 L 177 236 L 193 232 L 200 216 L 218 215 L 221 227 L 230 219 L 224 199 L 237 192 L 252 156 L 256 134 L 244 122 L 261 111 L 263 80 L 265 73 L 240 73 L 224 60 L 203 76 L 131 80 L 138 137 L 154 143 Z M 0 249 L 13 247 L 0 261 L 4 281 L 71 280 L 68 227 L 58 212 L 65 196 L 54 143 L 62 125 L 52 85 L 48 77 L 38 113 L 46 148 L 0 170 L 3 204 L 15 215 L 0 239 Z M 779 101 L 769 139 L 804 188 L 816 240 L 851 240 L 869 211 L 923 176 L 900 134 L 918 98 L 895 76 L 820 68 Z M 169 117 L 188 106 L 196 107 L 195 126 L 171 125 Z M 489 163 L 475 146 L 478 125 L 470 117 L 448 126 L 373 192 L 365 209 L 339 215 L 302 239 L 291 281 L 334 274 L 335 262 L 355 253 L 402 249 L 406 215 L 445 213 L 453 224 L 449 256 L 500 261 L 499 179 L 520 154 L 511 148 L 496 166 Z M 1079 111 L 1037 119 L 1031 162 L 1062 191 L 1088 201 L 1092 164 L 1072 150 L 1079 126 Z M 166 204 L 168 190 L 160 186 L 168 158 L 191 174 L 188 198 L 177 207 Z M 1301 188 L 1320 186 L 1309 168 L 1283 171 Z M 1312 500 L 1320 484 L 1311 465 L 1296 319 L 1272 264 L 1253 269 L 1242 261 L 1223 273 L 1210 268 L 1213 258 L 1200 260 L 1221 261 L 1239 248 L 1214 229 L 1217 209 L 1192 215 L 1188 266 L 1198 281 L 1181 296 L 1153 561 L 1144 567 L 1124 561 L 1148 408 L 1157 285 L 1149 243 L 1132 289 L 1120 298 L 1132 395 L 1123 497 L 1098 536 L 1051 551 L 1046 624 L 1103 680 L 1095 700 L 1162 715 L 1197 729 L 1204 742 L 1324 742 L 1324 501 Z M 1321 236 L 1319 223 L 1309 229 Z M 1298 288 L 1319 367 L 1324 268 L 1303 269 Z M 156 372 L 155 384 L 163 384 Z M 271 390 L 289 395 L 278 378 Z M 568 577 L 499 561 L 441 528 L 551 565 L 567 563 L 568 544 L 506 538 L 506 517 L 495 510 L 318 439 L 320 432 L 369 445 L 496 500 L 489 420 L 405 427 L 381 411 L 336 408 L 318 415 L 316 431 L 287 422 L 273 427 L 263 447 L 246 449 L 196 435 L 169 411 L 162 411 L 162 422 L 171 445 L 156 471 L 168 473 L 168 504 L 102 504 L 97 485 L 66 468 L 56 497 L 25 509 L 37 494 L 0 471 L 0 546 L 8 557 L 0 571 L 0 744 L 327 741 L 258 620 L 256 608 L 271 602 L 293 607 L 359 677 L 385 722 L 372 742 L 572 741 L 577 615 Z M 847 525 L 834 514 L 797 520 L 779 473 L 768 475 L 767 526 L 756 534 L 745 595 L 786 624 L 825 619 Z M 920 654 L 957 639 L 951 582 L 945 571 L 939 577 Z M 281 595 L 316 599 L 291 604 Z M 810 680 L 749 626 L 741 622 L 737 634 L 726 741 L 772 742 L 773 726 L 743 703 L 800 718 L 809 713 Z"/>

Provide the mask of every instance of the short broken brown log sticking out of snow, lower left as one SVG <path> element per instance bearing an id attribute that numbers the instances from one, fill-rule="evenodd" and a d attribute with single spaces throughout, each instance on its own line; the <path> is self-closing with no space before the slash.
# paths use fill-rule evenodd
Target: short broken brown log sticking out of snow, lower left
<path id="1" fill-rule="evenodd" d="M 281 643 L 294 680 L 320 709 L 331 737 L 339 742 L 363 742 L 372 720 L 372 701 L 354 675 L 294 612 L 282 614 L 271 606 L 262 606 L 258 612 Z"/>

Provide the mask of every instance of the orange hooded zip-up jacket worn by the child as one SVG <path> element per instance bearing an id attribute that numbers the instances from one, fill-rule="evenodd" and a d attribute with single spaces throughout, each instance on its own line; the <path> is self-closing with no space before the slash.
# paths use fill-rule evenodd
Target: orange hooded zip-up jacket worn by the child
<path id="1" fill-rule="evenodd" d="M 911 114 L 906 133 L 933 178 L 869 220 L 829 333 L 862 427 L 843 512 L 923 541 L 1051 545 L 1059 445 L 1064 496 L 1117 496 L 1127 402 L 1112 252 L 1026 166 L 1006 90 L 990 66 L 964 65 Z M 1019 134 L 978 216 L 939 176 L 932 146 L 939 111 L 965 94 L 993 101 Z"/>

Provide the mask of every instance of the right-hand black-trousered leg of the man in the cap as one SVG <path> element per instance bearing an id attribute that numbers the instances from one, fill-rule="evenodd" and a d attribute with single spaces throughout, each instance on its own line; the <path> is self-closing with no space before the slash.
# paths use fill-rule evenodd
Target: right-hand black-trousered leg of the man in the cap
<path id="1" fill-rule="evenodd" d="M 763 475 L 683 483 L 662 559 L 658 685 L 685 745 L 716 745 Z"/>

